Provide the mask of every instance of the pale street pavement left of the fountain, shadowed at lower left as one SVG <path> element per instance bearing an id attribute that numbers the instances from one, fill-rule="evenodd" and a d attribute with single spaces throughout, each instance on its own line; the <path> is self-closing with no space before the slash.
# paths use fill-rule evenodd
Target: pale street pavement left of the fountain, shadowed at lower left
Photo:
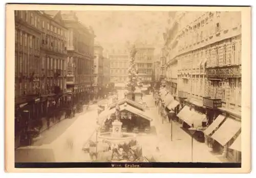
<path id="1" fill-rule="evenodd" d="M 107 100 L 98 103 L 105 105 Z M 89 154 L 82 151 L 83 145 L 96 137 L 97 104 L 77 114 L 72 119 L 64 119 L 40 134 L 31 146 L 16 150 L 16 162 L 84 162 L 90 161 Z M 40 150 L 40 151 L 38 151 Z M 49 150 L 52 150 L 50 153 Z M 35 156 L 36 155 L 36 156 Z M 36 157 L 36 158 L 35 158 Z M 51 158 L 49 158 L 51 157 Z M 54 157 L 54 158 L 52 158 Z"/>

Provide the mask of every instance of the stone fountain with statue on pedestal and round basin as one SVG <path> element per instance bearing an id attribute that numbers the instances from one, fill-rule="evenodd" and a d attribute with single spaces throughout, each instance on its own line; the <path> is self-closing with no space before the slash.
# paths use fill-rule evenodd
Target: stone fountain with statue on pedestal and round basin
<path id="1" fill-rule="evenodd" d="M 127 104 L 125 103 L 125 106 Z M 123 143 L 136 139 L 136 134 L 122 132 L 122 122 L 120 122 L 120 107 L 116 105 L 115 121 L 112 122 L 112 132 L 103 132 L 98 136 L 99 141 L 108 140 L 111 143 Z"/>

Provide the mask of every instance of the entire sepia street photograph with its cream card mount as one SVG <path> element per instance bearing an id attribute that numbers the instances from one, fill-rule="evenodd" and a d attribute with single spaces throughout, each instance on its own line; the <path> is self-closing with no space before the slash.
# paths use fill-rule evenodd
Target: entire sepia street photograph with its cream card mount
<path id="1" fill-rule="evenodd" d="M 26 6 L 7 14 L 14 168 L 250 164 L 249 7 Z"/>

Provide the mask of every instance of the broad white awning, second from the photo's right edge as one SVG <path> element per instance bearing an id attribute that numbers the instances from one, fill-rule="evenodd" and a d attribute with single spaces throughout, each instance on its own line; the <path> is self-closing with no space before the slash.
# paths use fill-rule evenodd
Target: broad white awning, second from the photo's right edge
<path id="1" fill-rule="evenodd" d="M 227 118 L 220 128 L 211 136 L 211 138 L 224 146 L 228 141 L 230 141 L 230 139 L 234 137 L 234 135 L 236 135 L 240 128 L 241 122 Z"/>

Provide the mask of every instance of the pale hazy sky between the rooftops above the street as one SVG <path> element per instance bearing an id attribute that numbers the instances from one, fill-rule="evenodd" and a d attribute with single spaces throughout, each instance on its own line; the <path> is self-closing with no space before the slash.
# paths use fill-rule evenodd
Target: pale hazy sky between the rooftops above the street
<path id="1" fill-rule="evenodd" d="M 168 12 L 164 11 L 76 11 L 81 23 L 92 26 L 104 49 L 122 48 L 126 41 L 135 40 L 155 46 L 155 53 L 163 46 L 163 32 Z"/>

